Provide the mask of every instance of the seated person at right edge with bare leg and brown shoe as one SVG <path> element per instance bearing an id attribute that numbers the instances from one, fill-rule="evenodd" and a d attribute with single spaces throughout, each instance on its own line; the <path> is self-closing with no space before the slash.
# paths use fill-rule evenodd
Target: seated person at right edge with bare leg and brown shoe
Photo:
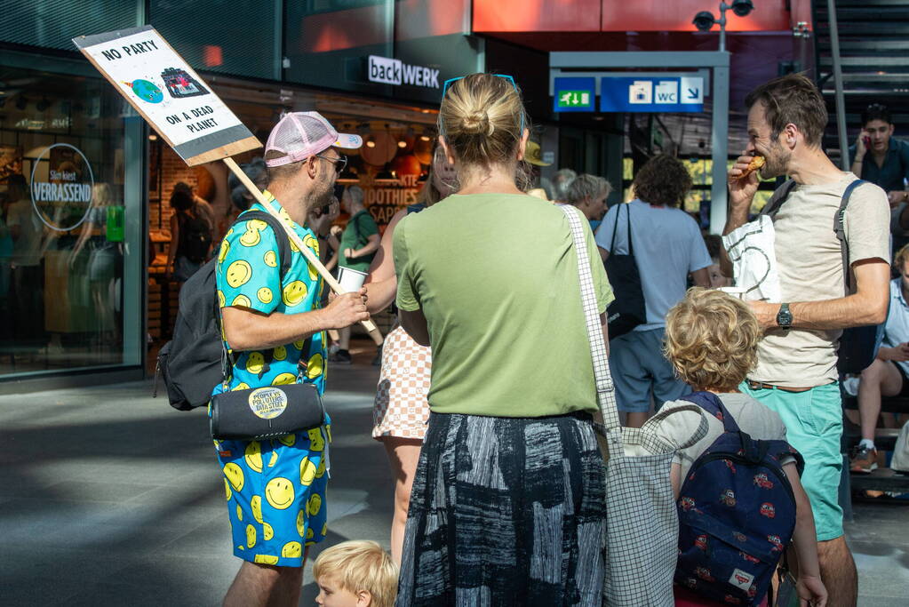
<path id="1" fill-rule="evenodd" d="M 894 267 L 900 275 L 890 281 L 890 311 L 884 324 L 884 341 L 858 384 L 862 441 L 849 463 L 854 473 L 870 473 L 877 468 L 874 430 L 881 414 L 881 397 L 909 395 L 909 303 L 906 303 L 909 302 L 909 244 L 896 253 Z M 845 387 L 849 387 L 848 380 Z"/>

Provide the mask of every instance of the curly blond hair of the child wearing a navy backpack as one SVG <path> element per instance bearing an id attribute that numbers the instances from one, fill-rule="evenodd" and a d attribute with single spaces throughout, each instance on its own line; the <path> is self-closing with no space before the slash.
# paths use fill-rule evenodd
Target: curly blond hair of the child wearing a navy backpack
<path id="1" fill-rule="evenodd" d="M 760 339 L 748 305 L 722 291 L 689 289 L 666 315 L 666 358 L 698 390 L 735 389 L 757 363 Z"/>

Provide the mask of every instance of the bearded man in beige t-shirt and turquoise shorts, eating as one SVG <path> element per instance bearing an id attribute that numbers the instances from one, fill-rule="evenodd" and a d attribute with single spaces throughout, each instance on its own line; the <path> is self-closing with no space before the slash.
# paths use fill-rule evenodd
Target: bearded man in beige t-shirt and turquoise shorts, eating
<path id="1" fill-rule="evenodd" d="M 847 327 L 880 324 L 890 279 L 890 205 L 874 184 L 855 187 L 844 214 L 854 293 L 845 295 L 840 242 L 834 233 L 845 189 L 855 181 L 824 154 L 828 114 L 824 97 L 804 75 L 786 75 L 745 98 L 748 146 L 729 171 L 724 234 L 748 221 L 759 183 L 749 173 L 764 156 L 764 179 L 788 175 L 795 186 L 773 215 L 774 254 L 782 302 L 749 301 L 764 329 L 757 366 L 740 389 L 783 418 L 789 442 L 804 456 L 804 489 L 811 498 L 818 556 L 830 604 L 851 607 L 858 579 L 846 545 L 839 484 L 843 407 L 836 350 Z M 777 188 L 769 208 L 789 189 Z M 732 276 L 723 254 L 724 274 Z"/>

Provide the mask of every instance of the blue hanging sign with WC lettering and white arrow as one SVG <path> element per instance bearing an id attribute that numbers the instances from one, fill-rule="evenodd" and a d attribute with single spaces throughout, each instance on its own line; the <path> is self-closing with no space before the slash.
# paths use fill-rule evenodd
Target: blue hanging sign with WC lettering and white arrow
<path id="1" fill-rule="evenodd" d="M 701 76 L 604 76 L 600 79 L 601 112 L 703 112 Z"/>

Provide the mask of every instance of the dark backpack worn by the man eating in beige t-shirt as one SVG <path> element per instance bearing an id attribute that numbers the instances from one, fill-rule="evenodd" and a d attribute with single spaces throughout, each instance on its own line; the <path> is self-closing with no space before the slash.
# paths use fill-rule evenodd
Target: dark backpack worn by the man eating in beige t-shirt
<path id="1" fill-rule="evenodd" d="M 867 184 L 864 179 L 856 179 L 846 186 L 843 192 L 843 198 L 840 199 L 840 208 L 836 210 L 834 216 L 834 233 L 837 240 L 840 241 L 840 254 L 843 257 L 843 275 L 845 284 L 845 294 L 852 293 L 853 280 L 852 268 L 849 264 L 849 243 L 846 241 L 844 218 L 846 207 L 849 205 L 849 198 L 852 196 L 855 188 L 859 185 Z M 774 206 L 764 214 L 770 215 L 771 218 L 780 210 L 786 198 L 795 188 L 793 180 L 788 181 L 784 186 L 783 195 L 776 201 Z M 889 300 L 888 300 L 889 304 Z M 874 363 L 877 356 L 877 350 L 881 347 L 884 340 L 884 324 L 872 324 L 869 326 L 850 327 L 843 330 L 840 336 L 840 347 L 837 351 L 836 369 L 840 374 L 857 374 L 862 373 L 866 368 Z"/>

